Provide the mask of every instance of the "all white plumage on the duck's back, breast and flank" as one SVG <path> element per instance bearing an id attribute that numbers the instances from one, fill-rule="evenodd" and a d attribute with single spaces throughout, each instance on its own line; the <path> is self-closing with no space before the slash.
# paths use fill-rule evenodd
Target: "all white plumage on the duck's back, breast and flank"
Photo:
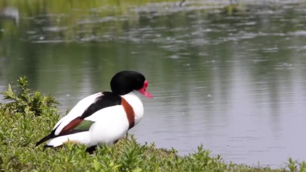
<path id="1" fill-rule="evenodd" d="M 55 130 L 55 134 L 60 133 L 69 122 L 82 115 L 99 96 L 102 96 L 102 93 L 88 96 L 75 105 L 71 111 L 55 125 L 54 129 L 58 126 Z M 143 105 L 141 100 L 135 92 L 130 92 L 122 97 L 133 108 L 135 113 L 135 125 L 138 124 L 143 117 Z M 67 141 L 78 142 L 87 146 L 98 144 L 112 145 L 116 140 L 123 137 L 129 129 L 128 118 L 122 105 L 101 109 L 85 118 L 85 120 L 95 121 L 89 131 L 55 137 L 51 139 L 47 145 L 57 147 Z"/>

